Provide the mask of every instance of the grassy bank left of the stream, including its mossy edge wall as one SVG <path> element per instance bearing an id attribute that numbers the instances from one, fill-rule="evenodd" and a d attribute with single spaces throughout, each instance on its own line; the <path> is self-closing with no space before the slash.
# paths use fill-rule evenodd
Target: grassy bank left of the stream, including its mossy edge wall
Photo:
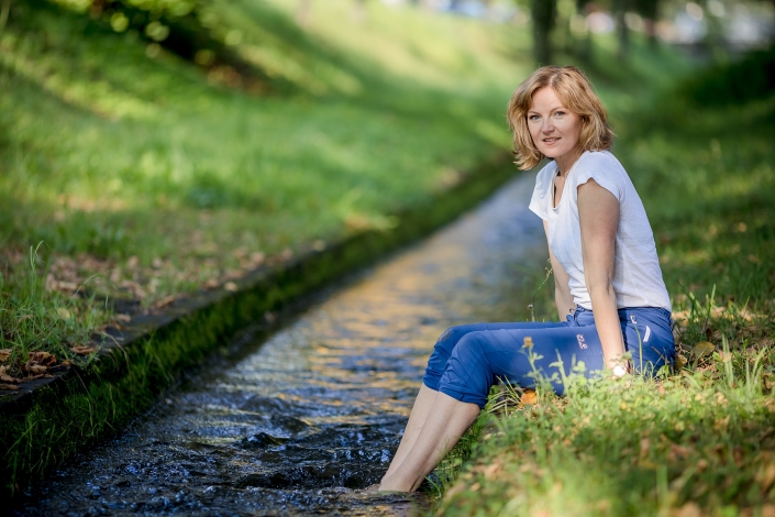
<path id="1" fill-rule="evenodd" d="M 513 28 L 376 2 L 355 19 L 333 1 L 302 29 L 292 6 L 202 3 L 209 62 L 89 2 L 11 4 L 0 384 L 45 386 L 3 392 L 5 493 L 115 432 L 239 328 L 514 174 L 502 105 L 529 67 Z"/>

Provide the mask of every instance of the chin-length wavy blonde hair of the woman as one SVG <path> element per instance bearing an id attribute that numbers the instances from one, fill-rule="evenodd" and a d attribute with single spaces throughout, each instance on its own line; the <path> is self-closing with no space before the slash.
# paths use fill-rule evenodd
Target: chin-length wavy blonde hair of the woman
<path id="1" fill-rule="evenodd" d="M 528 129 L 528 111 L 533 96 L 551 87 L 565 108 L 582 118 L 578 141 L 584 151 L 606 151 L 613 144 L 613 131 L 608 125 L 608 113 L 595 94 L 591 82 L 575 66 L 544 66 L 533 74 L 511 95 L 506 116 L 513 133 L 514 163 L 527 170 L 535 167 L 544 155 L 538 150 Z"/>

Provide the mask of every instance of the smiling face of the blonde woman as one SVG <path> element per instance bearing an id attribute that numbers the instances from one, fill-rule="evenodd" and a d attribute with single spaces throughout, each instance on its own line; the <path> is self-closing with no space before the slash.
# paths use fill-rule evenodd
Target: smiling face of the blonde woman
<path id="1" fill-rule="evenodd" d="M 549 158 L 576 152 L 582 118 L 563 106 L 554 90 L 545 86 L 533 95 L 528 111 L 528 129 L 535 147 Z"/>

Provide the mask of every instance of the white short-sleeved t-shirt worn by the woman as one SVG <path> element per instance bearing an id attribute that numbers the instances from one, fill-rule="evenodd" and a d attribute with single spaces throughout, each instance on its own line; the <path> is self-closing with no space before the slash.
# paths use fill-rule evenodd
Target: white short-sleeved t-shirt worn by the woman
<path id="1" fill-rule="evenodd" d="M 584 280 L 578 186 L 594 178 L 619 200 L 612 282 L 617 308 L 663 307 L 671 310 L 671 299 L 662 279 L 649 218 L 635 187 L 619 161 L 608 151 L 585 152 L 571 168 L 560 205 L 553 208 L 556 175 L 555 162 L 550 162 L 539 172 L 530 209 L 547 222 L 549 245 L 571 276 L 568 286 L 574 301 L 585 309 L 593 308 Z"/>

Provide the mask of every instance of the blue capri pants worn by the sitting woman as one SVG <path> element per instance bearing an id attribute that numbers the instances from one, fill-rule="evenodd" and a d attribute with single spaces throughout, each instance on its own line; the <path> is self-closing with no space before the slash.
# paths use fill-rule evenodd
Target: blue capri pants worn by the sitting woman
<path id="1" fill-rule="evenodd" d="M 675 361 L 675 342 L 669 311 L 655 307 L 619 310 L 627 351 L 635 372 L 654 374 Z M 533 366 L 523 348 L 532 338 Z M 540 359 L 536 359 L 540 356 Z M 575 364 L 583 361 L 585 376 L 604 370 L 602 345 L 593 311 L 577 307 L 567 321 L 475 323 L 451 327 L 441 334 L 428 361 L 422 382 L 431 389 L 480 408 L 498 378 L 523 388 L 533 388 L 536 375 L 551 380 L 563 395 L 561 382 Z M 562 362 L 563 372 L 560 372 Z M 554 364 L 553 364 L 554 363 Z"/>

